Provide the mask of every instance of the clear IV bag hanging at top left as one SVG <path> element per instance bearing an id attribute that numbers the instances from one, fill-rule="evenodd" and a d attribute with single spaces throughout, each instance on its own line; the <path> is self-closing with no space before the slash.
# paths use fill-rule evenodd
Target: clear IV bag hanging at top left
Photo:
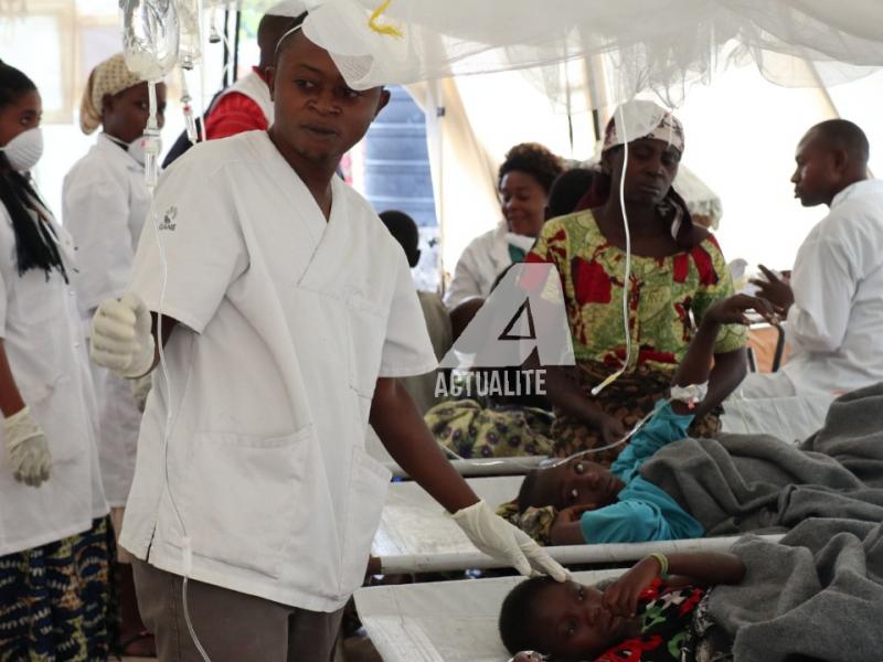
<path id="1" fill-rule="evenodd" d="M 178 60 L 174 0 L 119 0 L 126 66 L 147 81 L 160 81 Z"/>

